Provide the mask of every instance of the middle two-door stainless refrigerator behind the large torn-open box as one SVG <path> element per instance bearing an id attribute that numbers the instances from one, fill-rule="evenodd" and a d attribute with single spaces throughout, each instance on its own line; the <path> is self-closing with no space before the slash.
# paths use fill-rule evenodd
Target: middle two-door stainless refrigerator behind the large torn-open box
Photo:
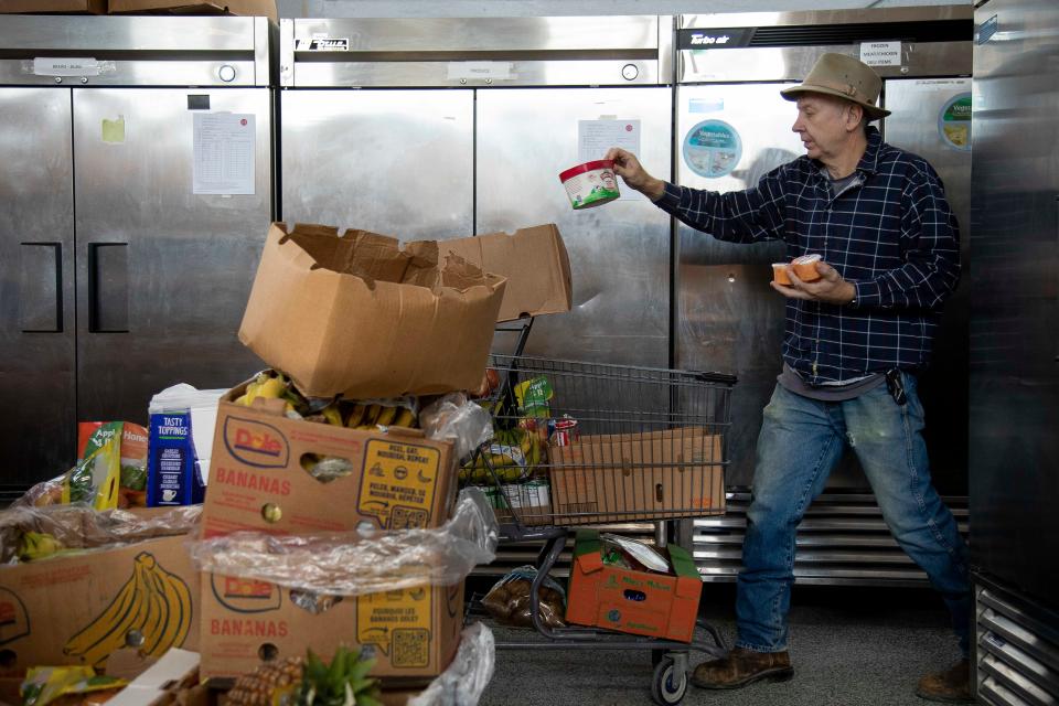
<path id="1" fill-rule="evenodd" d="M 653 15 L 285 20 L 282 217 L 405 240 L 555 223 L 574 310 L 527 353 L 664 366 L 670 220 L 639 194 L 576 212 L 558 174 L 582 121 L 632 126 L 670 174 L 671 43 Z"/>

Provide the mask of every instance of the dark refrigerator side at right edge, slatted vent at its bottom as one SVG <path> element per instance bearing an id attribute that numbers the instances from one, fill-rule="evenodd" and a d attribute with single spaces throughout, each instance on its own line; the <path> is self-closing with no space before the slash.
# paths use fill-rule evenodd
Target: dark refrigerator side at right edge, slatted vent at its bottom
<path id="1" fill-rule="evenodd" d="M 971 558 L 986 704 L 1059 703 L 1059 8 L 975 11 Z"/>

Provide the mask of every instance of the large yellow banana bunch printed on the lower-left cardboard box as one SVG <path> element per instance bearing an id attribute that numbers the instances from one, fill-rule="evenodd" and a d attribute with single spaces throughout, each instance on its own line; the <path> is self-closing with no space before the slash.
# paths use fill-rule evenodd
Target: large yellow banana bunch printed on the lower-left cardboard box
<path id="1" fill-rule="evenodd" d="M 137 644 L 149 656 L 180 646 L 191 630 L 192 602 L 188 584 L 167 571 L 154 556 L 140 552 L 132 576 L 110 605 L 63 648 L 63 654 L 101 667 L 115 650 Z"/>

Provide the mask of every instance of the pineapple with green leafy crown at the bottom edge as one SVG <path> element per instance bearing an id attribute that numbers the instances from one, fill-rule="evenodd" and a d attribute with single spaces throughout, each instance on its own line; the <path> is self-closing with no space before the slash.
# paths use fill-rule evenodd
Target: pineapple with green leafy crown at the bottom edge
<path id="1" fill-rule="evenodd" d="M 367 677 L 374 660 L 339 648 L 331 664 L 309 656 L 266 662 L 236 680 L 231 706 L 382 706 L 378 680 Z"/>

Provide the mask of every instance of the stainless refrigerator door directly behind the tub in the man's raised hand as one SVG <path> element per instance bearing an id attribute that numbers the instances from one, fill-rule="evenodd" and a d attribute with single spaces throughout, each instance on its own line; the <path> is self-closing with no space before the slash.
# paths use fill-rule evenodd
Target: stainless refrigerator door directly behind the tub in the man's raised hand
<path id="1" fill-rule="evenodd" d="M 559 172 L 587 161 L 578 149 L 590 143 L 578 137 L 585 120 L 586 136 L 617 124 L 639 135 L 644 168 L 667 178 L 671 111 L 665 87 L 479 92 L 475 232 L 555 223 L 570 256 L 573 311 L 541 317 L 528 354 L 667 366 L 670 218 L 624 184 L 621 200 L 575 211 Z"/>

